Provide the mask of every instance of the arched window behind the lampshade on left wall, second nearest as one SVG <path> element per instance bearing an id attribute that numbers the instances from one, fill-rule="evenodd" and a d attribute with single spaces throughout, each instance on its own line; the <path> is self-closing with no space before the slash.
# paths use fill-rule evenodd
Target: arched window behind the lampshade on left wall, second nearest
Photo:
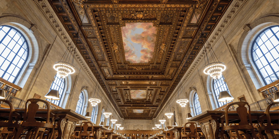
<path id="1" fill-rule="evenodd" d="M 59 78 L 57 74 L 55 75 L 55 80 L 52 82 L 51 87 L 49 90 L 54 89 L 58 90 L 59 92 L 59 98 L 61 100 L 62 94 L 64 92 L 65 88 L 65 79 L 64 78 Z M 50 101 L 50 99 L 46 99 L 47 101 Z M 59 105 L 60 100 L 51 100 L 51 103 L 55 105 Z"/>

